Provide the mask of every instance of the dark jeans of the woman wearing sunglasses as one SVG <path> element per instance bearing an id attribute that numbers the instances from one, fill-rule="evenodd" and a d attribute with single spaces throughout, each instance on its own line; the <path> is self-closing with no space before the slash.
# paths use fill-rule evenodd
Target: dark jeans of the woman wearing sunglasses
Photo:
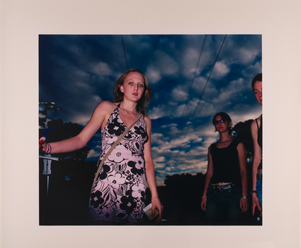
<path id="1" fill-rule="evenodd" d="M 240 225 L 242 188 L 215 190 L 208 187 L 205 225 Z"/>

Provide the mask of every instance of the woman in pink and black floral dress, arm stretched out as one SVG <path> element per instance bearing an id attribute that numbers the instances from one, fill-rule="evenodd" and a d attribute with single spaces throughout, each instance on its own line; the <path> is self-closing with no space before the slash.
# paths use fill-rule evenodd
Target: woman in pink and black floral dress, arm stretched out
<path id="1" fill-rule="evenodd" d="M 98 174 L 89 202 L 90 223 L 142 222 L 147 184 L 152 193 L 152 215 L 156 208 L 157 222 L 161 220 L 163 206 L 158 198 L 151 150 L 152 123 L 146 115 L 152 92 L 147 77 L 138 69 L 130 69 L 116 81 L 113 102 L 99 103 L 79 135 L 52 143 L 44 142 L 45 137 L 40 139 L 42 150 L 47 153 L 72 152 L 84 147 L 101 128 L 99 165 L 138 113 L 143 114 L 110 153 Z"/>

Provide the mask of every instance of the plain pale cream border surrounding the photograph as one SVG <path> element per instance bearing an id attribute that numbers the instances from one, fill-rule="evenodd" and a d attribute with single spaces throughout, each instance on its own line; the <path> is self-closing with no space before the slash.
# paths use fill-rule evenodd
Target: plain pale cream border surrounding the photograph
<path id="1" fill-rule="evenodd" d="M 300 247 L 300 1 L 1 1 L 1 247 Z M 39 34 L 261 34 L 263 226 L 39 226 Z"/>

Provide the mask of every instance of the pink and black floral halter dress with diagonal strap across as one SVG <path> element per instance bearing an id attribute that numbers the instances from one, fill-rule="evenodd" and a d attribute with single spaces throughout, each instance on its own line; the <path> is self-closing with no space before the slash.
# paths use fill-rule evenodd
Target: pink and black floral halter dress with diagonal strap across
<path id="1" fill-rule="evenodd" d="M 101 131 L 102 152 L 98 165 L 118 136 L 127 129 L 120 118 L 119 106 L 110 114 Z M 147 188 L 143 148 L 147 140 L 147 127 L 140 118 L 103 164 L 91 191 L 89 220 L 143 221 Z"/>

